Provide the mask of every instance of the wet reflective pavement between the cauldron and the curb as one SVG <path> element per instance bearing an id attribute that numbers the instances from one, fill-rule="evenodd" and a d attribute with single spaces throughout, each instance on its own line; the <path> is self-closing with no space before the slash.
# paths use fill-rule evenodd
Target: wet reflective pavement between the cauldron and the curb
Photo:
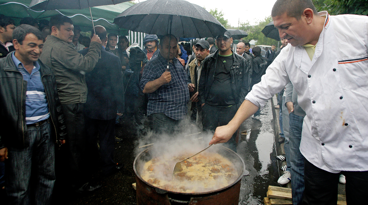
<path id="1" fill-rule="evenodd" d="M 250 175 L 242 178 L 240 205 L 263 204 L 268 186 L 279 186 L 272 110 L 270 106 L 265 109 L 269 114 L 261 115 L 261 121 L 250 118 L 242 124 L 237 152 Z"/>

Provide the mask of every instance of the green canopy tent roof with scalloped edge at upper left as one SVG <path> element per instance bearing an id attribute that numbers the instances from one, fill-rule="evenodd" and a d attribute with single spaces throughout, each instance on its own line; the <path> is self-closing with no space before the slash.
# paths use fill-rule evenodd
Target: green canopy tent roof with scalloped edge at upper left
<path id="1" fill-rule="evenodd" d="M 63 14 L 67 17 L 70 17 L 75 25 L 81 26 L 82 31 L 86 32 L 92 29 L 89 8 L 81 10 L 63 9 L 35 11 L 28 8 L 30 3 L 31 0 L 16 0 L 13 2 L 0 0 L 0 14 L 12 17 L 17 24 L 19 24 L 20 19 L 24 17 L 49 20 L 53 15 Z M 113 24 L 113 21 L 118 14 L 132 5 L 133 4 L 130 2 L 124 2 L 116 5 L 91 7 L 93 22 L 95 25 L 104 26 L 109 33 L 114 32 L 118 35 L 128 35 L 128 30 L 119 28 L 117 25 Z"/>

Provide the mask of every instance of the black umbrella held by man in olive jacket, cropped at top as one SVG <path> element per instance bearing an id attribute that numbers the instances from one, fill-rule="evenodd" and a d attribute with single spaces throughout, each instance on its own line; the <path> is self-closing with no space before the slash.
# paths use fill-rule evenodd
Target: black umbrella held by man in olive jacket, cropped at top
<path id="1" fill-rule="evenodd" d="M 110 4 L 119 4 L 129 0 L 32 0 L 29 4 L 31 9 L 39 10 L 56 10 L 56 9 L 83 9 L 89 8 L 91 13 L 93 30 L 95 25 L 93 24 L 91 7 L 104 6 Z M 96 32 L 95 32 L 96 33 Z"/>

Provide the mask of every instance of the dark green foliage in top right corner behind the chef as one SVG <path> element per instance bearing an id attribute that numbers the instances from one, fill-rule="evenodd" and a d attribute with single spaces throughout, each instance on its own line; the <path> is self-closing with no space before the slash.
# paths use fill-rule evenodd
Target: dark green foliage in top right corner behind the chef
<path id="1" fill-rule="evenodd" d="M 313 0 L 317 11 L 328 11 L 331 15 L 368 15 L 368 0 Z"/>

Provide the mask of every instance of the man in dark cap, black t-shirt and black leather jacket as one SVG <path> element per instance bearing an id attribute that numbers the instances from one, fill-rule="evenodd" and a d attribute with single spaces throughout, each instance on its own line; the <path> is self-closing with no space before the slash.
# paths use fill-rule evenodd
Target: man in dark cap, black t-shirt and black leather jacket
<path id="1" fill-rule="evenodd" d="M 227 31 L 216 37 L 218 50 L 205 58 L 198 84 L 204 131 L 215 132 L 234 117 L 250 90 L 252 62 L 231 50 L 233 38 Z M 225 143 L 236 151 L 236 134 Z"/>

